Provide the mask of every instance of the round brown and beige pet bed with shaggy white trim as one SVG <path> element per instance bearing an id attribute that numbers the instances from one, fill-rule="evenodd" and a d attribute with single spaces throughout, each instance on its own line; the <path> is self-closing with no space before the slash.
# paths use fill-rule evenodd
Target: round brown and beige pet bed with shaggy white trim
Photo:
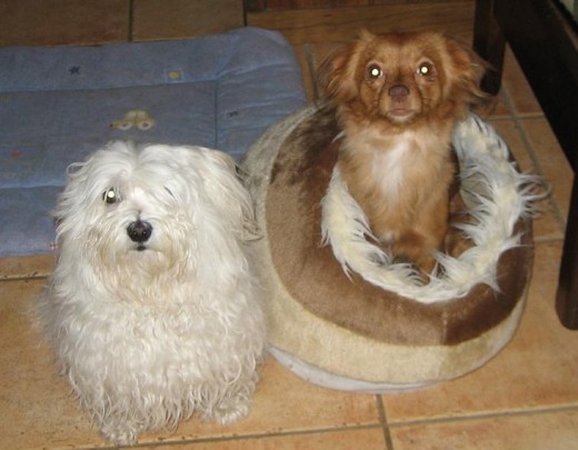
<path id="1" fill-rule="evenodd" d="M 383 263 L 362 220 L 345 220 L 350 227 L 323 243 L 321 218 L 347 216 L 333 170 L 338 134 L 331 110 L 309 107 L 270 128 L 243 161 L 263 230 L 271 354 L 308 381 L 365 392 L 479 368 L 508 343 L 524 310 L 531 178 L 516 171 L 491 127 L 475 116 L 460 123 L 454 146 L 469 220 L 458 231 L 471 243 L 440 256 L 441 274 L 420 284 L 407 264 Z"/>

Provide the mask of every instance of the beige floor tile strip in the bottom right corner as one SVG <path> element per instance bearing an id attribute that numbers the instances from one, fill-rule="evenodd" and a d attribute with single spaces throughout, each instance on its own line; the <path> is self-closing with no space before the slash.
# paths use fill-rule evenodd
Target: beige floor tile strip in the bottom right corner
<path id="1" fill-rule="evenodd" d="M 396 450 L 576 450 L 578 410 L 393 428 Z"/>

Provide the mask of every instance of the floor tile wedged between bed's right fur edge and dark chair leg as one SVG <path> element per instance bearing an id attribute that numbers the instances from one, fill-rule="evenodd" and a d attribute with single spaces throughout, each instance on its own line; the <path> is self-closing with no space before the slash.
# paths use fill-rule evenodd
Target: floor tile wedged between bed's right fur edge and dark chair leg
<path id="1" fill-rule="evenodd" d="M 540 170 L 551 184 L 552 197 L 566 220 L 574 180 L 568 159 L 546 119 L 522 119 L 521 123 L 528 133 Z"/>

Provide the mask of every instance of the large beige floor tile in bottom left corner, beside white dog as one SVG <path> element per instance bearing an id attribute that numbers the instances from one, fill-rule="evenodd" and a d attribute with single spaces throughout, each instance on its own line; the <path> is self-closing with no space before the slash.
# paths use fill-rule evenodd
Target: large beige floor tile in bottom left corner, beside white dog
<path id="1" fill-rule="evenodd" d="M 30 309 L 42 286 L 43 280 L 0 282 L 1 449 L 101 442 L 32 326 Z"/>

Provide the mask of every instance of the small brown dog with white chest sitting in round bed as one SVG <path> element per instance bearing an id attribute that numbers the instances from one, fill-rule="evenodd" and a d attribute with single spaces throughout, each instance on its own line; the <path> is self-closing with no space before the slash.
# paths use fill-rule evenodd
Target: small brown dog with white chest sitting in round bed
<path id="1" fill-rule="evenodd" d="M 431 272 L 444 250 L 457 121 L 486 96 L 484 64 L 439 33 L 367 31 L 319 77 L 343 131 L 338 167 L 376 238 Z"/>

